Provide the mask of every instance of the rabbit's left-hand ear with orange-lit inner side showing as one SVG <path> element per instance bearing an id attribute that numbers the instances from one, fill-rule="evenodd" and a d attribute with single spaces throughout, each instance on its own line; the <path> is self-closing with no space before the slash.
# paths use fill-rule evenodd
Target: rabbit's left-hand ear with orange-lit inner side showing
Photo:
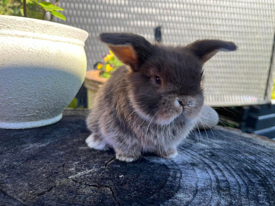
<path id="1" fill-rule="evenodd" d="M 137 72 L 147 58 L 150 58 L 152 44 L 144 37 L 131 33 L 101 33 L 99 40 L 106 43 L 115 56 Z"/>

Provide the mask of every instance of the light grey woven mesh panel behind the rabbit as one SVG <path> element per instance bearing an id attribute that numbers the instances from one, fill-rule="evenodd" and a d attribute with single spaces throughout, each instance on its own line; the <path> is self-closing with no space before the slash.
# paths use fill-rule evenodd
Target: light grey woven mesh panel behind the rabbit
<path id="1" fill-rule="evenodd" d="M 67 20 L 89 32 L 85 50 L 88 70 L 108 52 L 97 41 L 101 32 L 133 32 L 154 40 L 188 44 L 197 39 L 222 39 L 238 46 L 220 52 L 205 64 L 205 103 L 211 106 L 260 104 L 270 96 L 274 32 L 274 0 L 66 0 L 60 1 Z M 272 82 L 272 80 L 271 80 Z M 268 86 L 267 86 L 268 85 Z"/>

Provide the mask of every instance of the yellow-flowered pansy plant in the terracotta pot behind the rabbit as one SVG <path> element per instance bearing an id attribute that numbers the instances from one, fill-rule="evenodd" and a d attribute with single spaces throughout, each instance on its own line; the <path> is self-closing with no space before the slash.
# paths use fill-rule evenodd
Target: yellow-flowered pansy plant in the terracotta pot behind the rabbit
<path id="1" fill-rule="evenodd" d="M 123 64 L 114 56 L 112 51 L 103 56 L 103 62 L 98 62 L 96 68 L 100 70 L 99 76 L 109 78 L 111 73 Z"/>

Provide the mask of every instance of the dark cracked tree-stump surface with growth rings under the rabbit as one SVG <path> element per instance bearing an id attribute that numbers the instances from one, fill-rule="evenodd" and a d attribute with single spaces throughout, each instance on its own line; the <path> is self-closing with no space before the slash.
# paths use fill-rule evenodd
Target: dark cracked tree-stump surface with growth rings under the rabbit
<path id="1" fill-rule="evenodd" d="M 89 149 L 87 110 L 0 129 L 0 205 L 275 205 L 275 141 L 218 127 L 194 132 L 168 160 L 133 163 Z"/>

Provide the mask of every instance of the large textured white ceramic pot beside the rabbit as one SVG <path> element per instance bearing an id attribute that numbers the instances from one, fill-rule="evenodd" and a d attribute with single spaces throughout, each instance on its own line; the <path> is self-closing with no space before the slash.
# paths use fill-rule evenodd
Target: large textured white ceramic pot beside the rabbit
<path id="1" fill-rule="evenodd" d="M 75 27 L 0 15 L 0 128 L 62 118 L 85 78 L 87 37 Z"/>

